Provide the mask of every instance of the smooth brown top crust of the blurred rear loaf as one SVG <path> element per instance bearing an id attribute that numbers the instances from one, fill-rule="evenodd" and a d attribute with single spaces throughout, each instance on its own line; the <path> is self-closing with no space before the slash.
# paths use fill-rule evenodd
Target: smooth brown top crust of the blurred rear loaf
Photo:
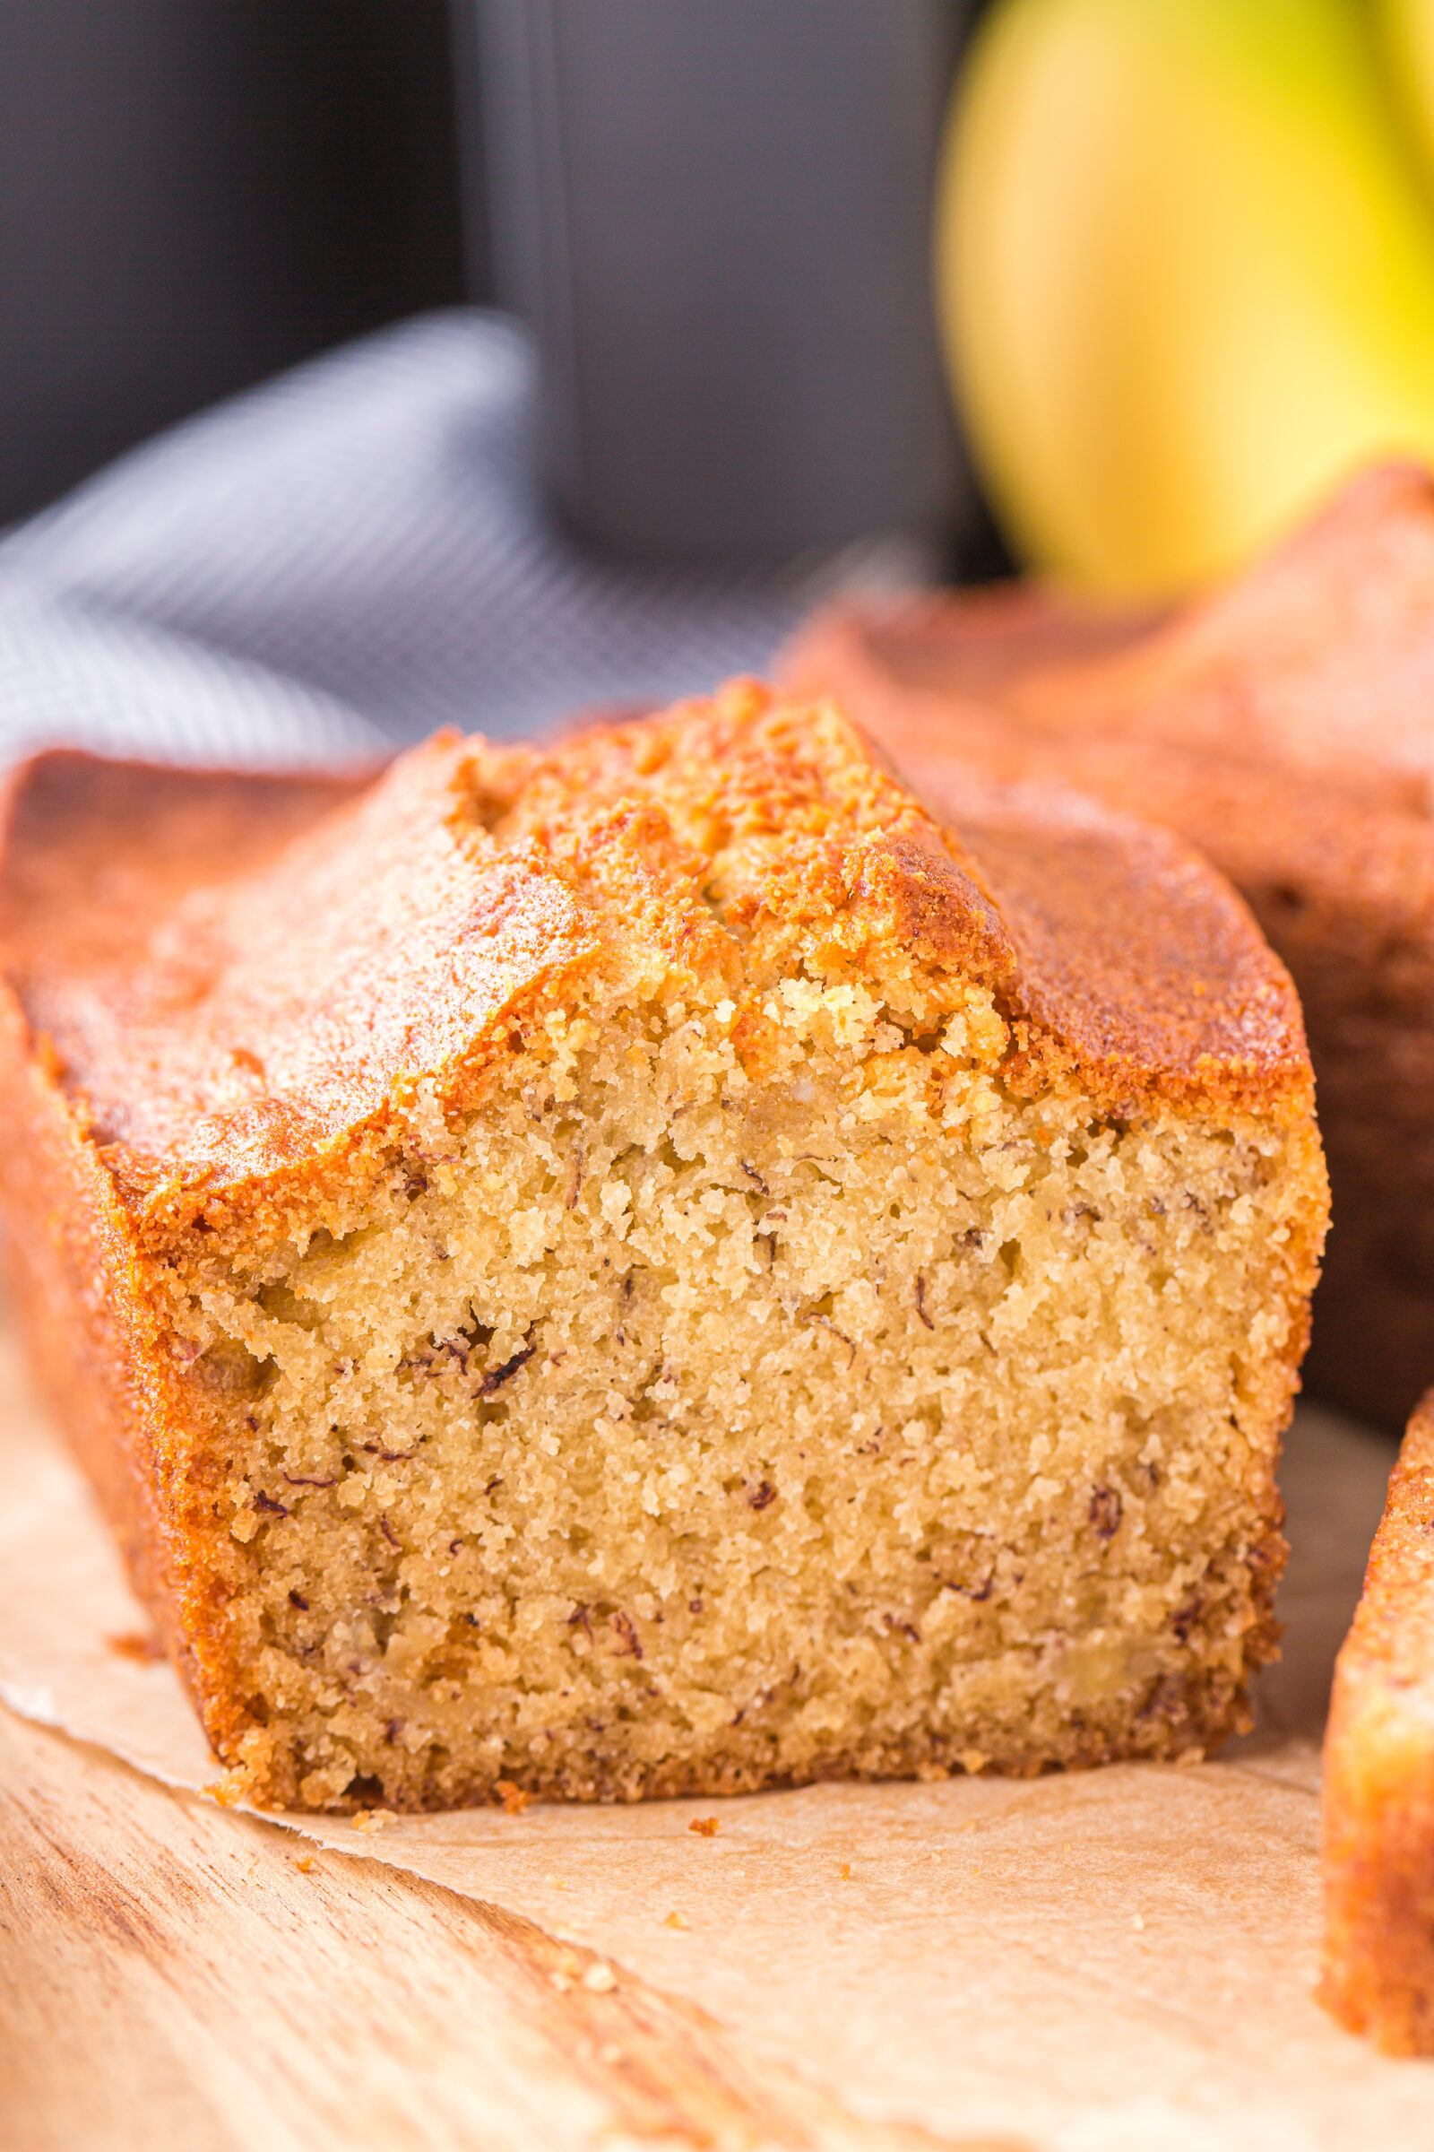
<path id="1" fill-rule="evenodd" d="M 802 693 L 830 684 L 845 624 L 877 676 L 995 704 L 1051 740 L 1163 740 L 1428 816 L 1432 609 L 1434 478 L 1385 465 L 1180 611 L 1092 613 L 1021 585 L 843 607 L 785 674 Z"/>

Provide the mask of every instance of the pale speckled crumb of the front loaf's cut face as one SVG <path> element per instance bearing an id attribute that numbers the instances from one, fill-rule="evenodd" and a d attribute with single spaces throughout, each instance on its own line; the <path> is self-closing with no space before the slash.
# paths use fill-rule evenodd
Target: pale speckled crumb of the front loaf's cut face
<path id="1" fill-rule="evenodd" d="M 1219 1739 L 1271 1644 L 1279 1145 L 787 979 L 548 1027 L 344 1231 L 189 1274 L 230 1752 L 305 1806 Z M 1251 1562 L 1253 1556 L 1253 1562 Z M 236 1739 L 234 1739 L 236 1737 Z"/>

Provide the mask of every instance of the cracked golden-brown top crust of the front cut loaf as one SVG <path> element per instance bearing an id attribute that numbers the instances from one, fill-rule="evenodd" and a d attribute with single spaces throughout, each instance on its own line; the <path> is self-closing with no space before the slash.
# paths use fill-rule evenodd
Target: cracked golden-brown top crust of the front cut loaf
<path id="1" fill-rule="evenodd" d="M 654 964 L 720 986 L 750 1054 L 793 968 L 879 979 L 933 1029 L 974 977 L 1116 1110 L 1309 1110 L 1288 975 L 1193 852 L 1053 788 L 946 766 L 940 790 L 750 682 L 331 781 L 52 753 L 4 803 L 4 973 L 155 1229 L 462 1106 L 546 1011 Z"/>

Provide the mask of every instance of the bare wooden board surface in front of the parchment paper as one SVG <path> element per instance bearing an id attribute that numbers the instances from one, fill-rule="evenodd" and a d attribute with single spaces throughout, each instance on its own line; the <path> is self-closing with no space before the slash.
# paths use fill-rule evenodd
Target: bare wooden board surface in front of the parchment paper
<path id="1" fill-rule="evenodd" d="M 976 2152 L 860 2122 L 531 1922 L 2 1709 L 0 2143 Z"/>

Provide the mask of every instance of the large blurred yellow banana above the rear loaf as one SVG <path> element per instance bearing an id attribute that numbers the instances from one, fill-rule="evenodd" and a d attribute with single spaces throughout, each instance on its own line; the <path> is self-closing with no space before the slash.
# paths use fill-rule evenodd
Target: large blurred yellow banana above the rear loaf
<path id="1" fill-rule="evenodd" d="M 1434 114 L 1434 32 L 1428 52 Z M 937 301 L 1032 564 L 1178 592 L 1372 456 L 1434 461 L 1434 189 L 1382 65 L 1367 0 L 987 17 L 940 176 Z"/>

